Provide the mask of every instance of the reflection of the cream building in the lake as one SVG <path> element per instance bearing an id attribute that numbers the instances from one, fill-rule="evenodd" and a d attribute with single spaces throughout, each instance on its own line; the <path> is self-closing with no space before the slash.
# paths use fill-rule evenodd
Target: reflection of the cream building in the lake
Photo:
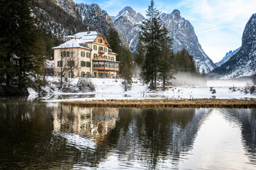
<path id="1" fill-rule="evenodd" d="M 118 108 L 80 108 L 58 106 L 54 111 L 55 132 L 76 133 L 94 139 L 99 144 L 106 140 L 118 119 Z"/>

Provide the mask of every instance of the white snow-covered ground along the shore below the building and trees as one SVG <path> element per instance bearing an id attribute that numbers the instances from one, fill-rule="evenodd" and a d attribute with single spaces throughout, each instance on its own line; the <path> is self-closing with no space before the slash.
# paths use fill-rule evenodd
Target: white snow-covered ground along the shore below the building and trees
<path id="1" fill-rule="evenodd" d="M 54 81 L 58 77 L 48 77 L 48 81 Z M 75 86 L 78 79 L 73 79 Z M 208 81 L 207 86 L 178 86 L 166 91 L 150 91 L 148 86 L 143 86 L 138 79 L 133 79 L 132 88 L 124 91 L 122 79 L 89 79 L 95 86 L 95 91 L 84 93 L 63 93 L 57 89 L 55 84 L 46 87 L 47 91 L 53 91 L 40 99 L 48 102 L 60 101 L 87 101 L 87 100 L 107 100 L 107 99 L 150 99 L 150 98 L 256 98 L 252 94 L 244 94 L 241 91 L 231 91 L 230 86 L 245 86 L 246 82 L 232 81 Z M 212 94 L 210 89 L 215 89 L 216 94 Z M 38 97 L 35 91 L 30 91 L 29 98 Z"/>

